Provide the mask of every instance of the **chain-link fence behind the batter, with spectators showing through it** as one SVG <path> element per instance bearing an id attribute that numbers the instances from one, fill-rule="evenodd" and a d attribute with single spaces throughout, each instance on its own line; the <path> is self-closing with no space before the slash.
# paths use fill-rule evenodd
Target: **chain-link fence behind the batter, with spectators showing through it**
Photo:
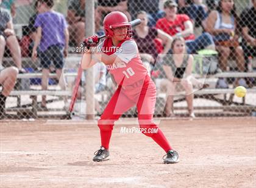
<path id="1" fill-rule="evenodd" d="M 255 115 L 255 0 L 1 1 L 1 118 L 101 115 L 116 90 L 102 62 L 82 73 L 72 113 L 69 103 L 86 29 L 103 35 L 113 11 L 142 21 L 133 39 L 157 87 L 155 116 Z"/>

